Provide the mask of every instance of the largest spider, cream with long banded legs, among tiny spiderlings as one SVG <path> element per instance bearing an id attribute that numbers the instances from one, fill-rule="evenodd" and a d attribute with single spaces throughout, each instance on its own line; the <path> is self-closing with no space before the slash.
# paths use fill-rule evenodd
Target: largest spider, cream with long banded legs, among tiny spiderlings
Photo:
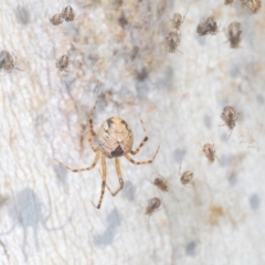
<path id="1" fill-rule="evenodd" d="M 102 157 L 102 173 L 100 173 L 102 174 L 102 193 L 100 193 L 99 202 L 97 205 L 95 205 L 92 202 L 95 208 L 99 209 L 102 205 L 102 201 L 103 201 L 103 197 L 104 197 L 106 187 L 113 197 L 115 197 L 124 188 L 124 180 L 123 180 L 120 165 L 119 165 L 119 157 L 125 156 L 126 159 L 128 159 L 131 163 L 135 163 L 135 165 L 152 163 L 152 161 L 155 160 L 155 158 L 158 153 L 159 147 L 150 160 L 135 161 L 132 158 L 130 158 L 129 153 L 132 156 L 138 153 L 140 151 L 141 147 L 148 140 L 146 128 L 144 126 L 141 118 L 140 118 L 140 123 L 141 123 L 141 126 L 142 126 L 142 129 L 144 129 L 146 136 L 145 136 L 144 140 L 140 142 L 140 145 L 138 146 L 138 148 L 134 151 L 132 150 L 134 135 L 132 135 L 132 131 L 131 131 L 129 125 L 124 119 L 121 119 L 119 117 L 108 118 L 100 126 L 98 134 L 96 134 L 94 131 L 93 116 L 94 116 L 95 108 L 96 108 L 96 104 L 89 116 L 91 137 L 88 138 L 92 150 L 94 152 L 96 152 L 94 162 L 87 168 L 72 169 L 72 168 L 67 167 L 66 165 L 64 165 L 57 160 L 56 161 L 73 172 L 82 172 L 82 171 L 86 171 L 86 170 L 92 170 L 98 162 L 99 158 Z M 96 141 L 98 144 L 97 147 L 95 147 L 93 145 L 93 139 L 96 139 Z M 119 179 L 119 188 L 115 192 L 112 192 L 109 187 L 106 184 L 106 177 L 107 177 L 106 157 L 115 158 L 116 171 L 117 171 L 118 179 Z"/>

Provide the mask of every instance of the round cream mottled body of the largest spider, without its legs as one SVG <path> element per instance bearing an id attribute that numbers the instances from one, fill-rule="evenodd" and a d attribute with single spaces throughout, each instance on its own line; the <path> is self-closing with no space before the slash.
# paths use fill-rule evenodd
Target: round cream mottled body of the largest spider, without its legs
<path id="1" fill-rule="evenodd" d="M 99 128 L 97 142 L 106 157 L 121 157 L 131 151 L 134 135 L 125 120 L 112 117 Z"/>

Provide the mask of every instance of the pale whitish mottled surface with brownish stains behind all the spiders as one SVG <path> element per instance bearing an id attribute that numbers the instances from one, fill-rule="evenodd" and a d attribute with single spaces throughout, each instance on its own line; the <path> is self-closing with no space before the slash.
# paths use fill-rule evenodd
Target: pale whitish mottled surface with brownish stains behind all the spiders
<path id="1" fill-rule="evenodd" d="M 76 20 L 54 26 L 49 15 L 71 4 Z M 188 10 L 188 12 L 187 12 Z M 169 18 L 187 17 L 179 51 L 165 40 Z M 218 20 L 216 35 L 198 36 L 198 23 Z M 223 1 L 30 1 L 0 3 L 0 49 L 17 56 L 0 76 L 0 264 L 232 264 L 265 263 L 264 80 L 265 11 L 252 14 L 239 0 Z M 225 29 L 242 23 L 241 47 Z M 70 72 L 55 61 L 70 56 Z M 136 156 L 120 158 L 125 189 L 105 193 L 100 210 L 100 163 L 92 163 L 84 132 L 88 115 L 97 130 L 112 116 L 132 128 Z M 220 127 L 224 106 L 241 112 L 230 139 Z M 240 142 L 248 132 L 255 142 Z M 84 132 L 84 134 L 83 134 Z M 201 145 L 213 140 L 219 161 L 209 165 Z M 183 187 L 182 171 L 194 173 Z M 107 160 L 107 181 L 118 180 Z M 150 183 L 168 179 L 170 192 Z M 145 214 L 147 201 L 162 206 Z"/>

